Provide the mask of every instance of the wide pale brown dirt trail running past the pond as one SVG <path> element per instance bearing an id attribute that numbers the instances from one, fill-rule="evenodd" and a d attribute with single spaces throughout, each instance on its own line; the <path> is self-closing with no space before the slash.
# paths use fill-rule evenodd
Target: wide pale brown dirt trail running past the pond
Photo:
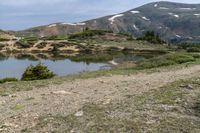
<path id="1" fill-rule="evenodd" d="M 11 97 L 0 97 L 0 124 L 7 124 L 6 132 L 19 132 L 33 126 L 39 116 L 67 115 L 78 111 L 87 102 L 108 104 L 126 95 L 138 95 L 199 74 L 200 65 L 196 65 L 151 74 L 76 79 L 61 85 L 50 84 L 46 88 L 17 92 Z"/>

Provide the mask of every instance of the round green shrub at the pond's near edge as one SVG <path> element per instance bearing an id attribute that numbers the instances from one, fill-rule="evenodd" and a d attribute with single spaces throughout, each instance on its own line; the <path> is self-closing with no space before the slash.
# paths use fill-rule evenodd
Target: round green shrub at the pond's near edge
<path id="1" fill-rule="evenodd" d="M 54 77 L 55 74 L 51 72 L 46 66 L 39 63 L 36 66 L 28 66 L 22 75 L 23 81 L 30 80 L 42 80 L 42 79 L 50 79 Z"/>

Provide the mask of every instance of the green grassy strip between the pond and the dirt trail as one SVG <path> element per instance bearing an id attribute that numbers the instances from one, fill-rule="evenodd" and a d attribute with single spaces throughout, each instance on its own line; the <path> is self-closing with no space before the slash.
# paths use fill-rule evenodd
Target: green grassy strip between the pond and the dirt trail
<path id="1" fill-rule="evenodd" d="M 160 60 L 158 60 L 158 59 Z M 163 60 L 164 59 L 164 60 Z M 160 62 L 164 61 L 173 61 L 172 64 L 163 63 L 160 65 Z M 137 67 L 126 67 L 120 65 L 120 67 L 115 67 L 111 70 L 99 70 L 95 72 L 82 72 L 76 75 L 69 75 L 65 77 L 55 77 L 48 80 L 36 80 L 36 81 L 18 81 L 18 82 L 8 82 L 0 85 L 0 96 L 7 96 L 9 94 L 18 92 L 18 91 L 29 91 L 33 88 L 42 88 L 48 86 L 49 84 L 61 84 L 63 82 L 72 81 L 74 79 L 87 79 L 87 78 L 95 78 L 100 76 L 110 76 L 110 75 L 129 75 L 137 72 L 159 72 L 159 71 L 168 71 L 172 69 L 180 69 L 181 67 L 188 67 L 190 65 L 200 64 L 200 59 L 198 54 L 188 54 L 188 53 L 171 53 L 168 55 L 164 55 L 162 57 L 155 57 L 150 59 L 151 61 L 142 61 Z M 156 61 L 154 61 L 156 60 Z M 152 62 L 158 64 L 153 64 Z M 143 65 L 145 63 L 145 65 Z M 146 65 L 146 63 L 149 63 Z M 142 65 L 141 65 L 142 64 Z M 150 67 L 149 67 L 150 66 Z M 166 94 L 168 95 L 168 94 Z M 161 96 L 162 97 L 162 96 Z"/>

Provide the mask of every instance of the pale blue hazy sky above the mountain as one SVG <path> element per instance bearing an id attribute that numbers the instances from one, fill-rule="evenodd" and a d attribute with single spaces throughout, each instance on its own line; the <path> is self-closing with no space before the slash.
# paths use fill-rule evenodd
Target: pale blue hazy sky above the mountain
<path id="1" fill-rule="evenodd" d="M 169 0 L 200 3 L 199 0 Z M 55 22 L 81 22 L 124 12 L 155 0 L 1 0 L 0 29 L 23 30 Z"/>

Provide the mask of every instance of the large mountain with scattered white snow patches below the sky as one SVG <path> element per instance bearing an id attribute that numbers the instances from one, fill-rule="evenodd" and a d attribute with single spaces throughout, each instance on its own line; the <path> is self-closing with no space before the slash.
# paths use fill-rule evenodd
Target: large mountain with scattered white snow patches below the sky
<path id="1" fill-rule="evenodd" d="M 21 35 L 66 35 L 84 28 L 106 29 L 139 37 L 155 31 L 171 42 L 200 41 L 200 4 L 154 2 L 81 23 L 54 23 L 19 31 Z"/>

